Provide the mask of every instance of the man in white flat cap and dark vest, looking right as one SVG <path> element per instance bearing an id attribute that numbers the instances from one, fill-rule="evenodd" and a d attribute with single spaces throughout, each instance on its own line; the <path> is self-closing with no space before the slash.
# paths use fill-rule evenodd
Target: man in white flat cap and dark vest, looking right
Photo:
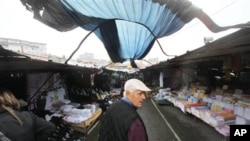
<path id="1" fill-rule="evenodd" d="M 138 79 L 125 82 L 123 98 L 113 103 L 100 119 L 99 141 L 148 141 L 145 125 L 137 113 L 147 91 L 151 89 Z"/>

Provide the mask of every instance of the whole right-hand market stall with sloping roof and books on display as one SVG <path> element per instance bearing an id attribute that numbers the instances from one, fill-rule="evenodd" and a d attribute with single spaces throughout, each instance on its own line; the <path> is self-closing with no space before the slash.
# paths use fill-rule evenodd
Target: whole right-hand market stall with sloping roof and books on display
<path id="1" fill-rule="evenodd" d="M 250 30 L 242 29 L 143 72 L 160 72 L 166 82 L 160 89 L 171 89 L 163 100 L 228 137 L 230 125 L 250 124 L 249 37 Z"/>

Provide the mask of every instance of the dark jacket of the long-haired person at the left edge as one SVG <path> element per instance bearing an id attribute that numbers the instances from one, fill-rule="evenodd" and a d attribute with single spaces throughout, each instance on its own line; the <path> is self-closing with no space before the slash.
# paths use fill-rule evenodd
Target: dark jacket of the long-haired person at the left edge
<path id="1" fill-rule="evenodd" d="M 6 111 L 0 112 L 0 131 L 12 141 L 45 141 L 55 125 L 29 111 L 15 111 L 23 126 Z"/>

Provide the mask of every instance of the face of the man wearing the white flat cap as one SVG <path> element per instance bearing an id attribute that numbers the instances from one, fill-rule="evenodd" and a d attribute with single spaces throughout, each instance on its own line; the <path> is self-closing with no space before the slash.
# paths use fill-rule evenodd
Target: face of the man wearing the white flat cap
<path id="1" fill-rule="evenodd" d="M 132 104 L 140 108 L 142 107 L 143 101 L 146 99 L 145 92 L 136 90 L 134 93 L 127 93 L 127 98 L 132 102 Z"/>

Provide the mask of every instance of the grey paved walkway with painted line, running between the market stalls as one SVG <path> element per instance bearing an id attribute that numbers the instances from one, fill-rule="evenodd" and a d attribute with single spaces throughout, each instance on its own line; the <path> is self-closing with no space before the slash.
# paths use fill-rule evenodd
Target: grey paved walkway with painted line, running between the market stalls
<path id="1" fill-rule="evenodd" d="M 145 122 L 149 141 L 223 141 L 224 136 L 193 115 L 172 105 L 158 105 L 151 99 L 138 110 Z M 97 141 L 99 123 L 89 132 L 87 140 Z"/>

